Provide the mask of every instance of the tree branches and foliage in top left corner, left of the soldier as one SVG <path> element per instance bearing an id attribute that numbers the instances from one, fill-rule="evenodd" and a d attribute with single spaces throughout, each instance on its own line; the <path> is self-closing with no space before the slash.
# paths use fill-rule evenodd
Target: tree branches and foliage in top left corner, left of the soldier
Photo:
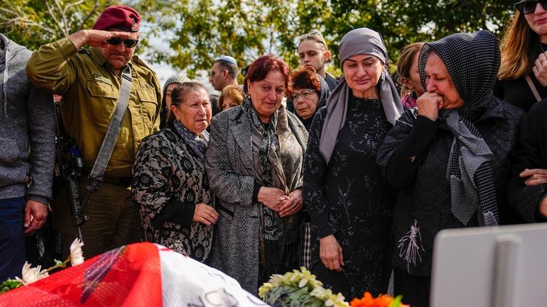
<path id="1" fill-rule="evenodd" d="M 0 33 L 35 50 L 90 28 L 112 0 L 0 0 Z"/>

